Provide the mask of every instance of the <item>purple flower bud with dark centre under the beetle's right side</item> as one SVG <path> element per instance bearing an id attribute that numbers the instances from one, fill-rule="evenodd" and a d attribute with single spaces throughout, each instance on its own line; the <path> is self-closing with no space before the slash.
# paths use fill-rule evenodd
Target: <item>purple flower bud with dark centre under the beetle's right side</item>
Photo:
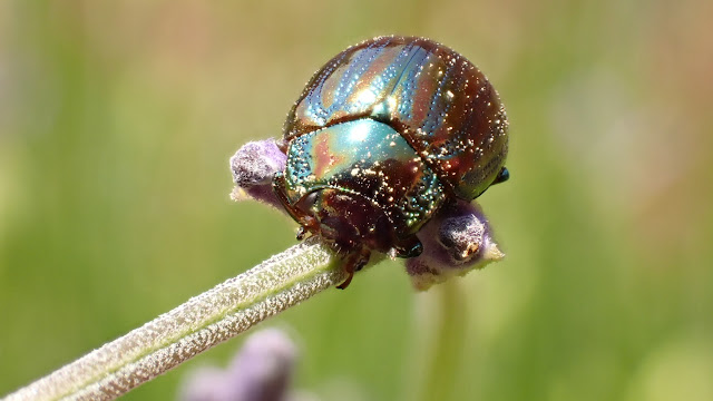
<path id="1" fill-rule="evenodd" d="M 406 266 L 419 291 L 482 268 L 505 256 L 492 239 L 490 225 L 476 203 L 458 200 L 445 205 L 417 235 L 423 244 L 423 252 L 407 260 Z"/>

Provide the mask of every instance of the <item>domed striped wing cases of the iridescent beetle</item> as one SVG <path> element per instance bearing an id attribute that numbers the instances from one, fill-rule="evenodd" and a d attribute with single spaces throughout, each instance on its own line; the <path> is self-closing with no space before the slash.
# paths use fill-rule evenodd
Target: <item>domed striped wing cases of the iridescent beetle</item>
<path id="1" fill-rule="evenodd" d="M 285 139 L 360 118 L 392 127 L 467 200 L 496 179 L 507 154 L 507 117 L 490 82 L 428 39 L 381 37 L 336 55 L 293 106 Z"/>

